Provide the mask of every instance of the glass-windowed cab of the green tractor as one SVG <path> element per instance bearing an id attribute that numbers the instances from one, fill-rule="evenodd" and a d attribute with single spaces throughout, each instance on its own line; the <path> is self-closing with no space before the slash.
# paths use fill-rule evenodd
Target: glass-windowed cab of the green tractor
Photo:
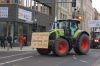
<path id="1" fill-rule="evenodd" d="M 65 35 L 73 37 L 75 31 L 78 29 L 78 24 L 78 20 L 57 20 L 53 23 L 52 29 L 63 29 Z"/>

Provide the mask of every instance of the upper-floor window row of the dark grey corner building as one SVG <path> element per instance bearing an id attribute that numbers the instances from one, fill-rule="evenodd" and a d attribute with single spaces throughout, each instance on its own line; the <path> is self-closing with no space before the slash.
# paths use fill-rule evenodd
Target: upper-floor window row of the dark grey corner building
<path id="1" fill-rule="evenodd" d="M 50 15 L 50 10 L 51 8 L 47 5 L 44 5 L 40 2 L 35 2 L 34 0 L 0 0 L 0 3 L 16 3 L 31 9 L 34 9 L 40 13 L 46 14 L 46 15 Z"/>

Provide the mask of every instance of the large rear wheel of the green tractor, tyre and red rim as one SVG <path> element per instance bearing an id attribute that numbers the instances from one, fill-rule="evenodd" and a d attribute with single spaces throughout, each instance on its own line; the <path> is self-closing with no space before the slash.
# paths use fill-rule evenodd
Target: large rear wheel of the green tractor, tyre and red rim
<path id="1" fill-rule="evenodd" d="M 89 36 L 82 34 L 74 45 L 74 51 L 77 54 L 84 55 L 89 51 Z"/>

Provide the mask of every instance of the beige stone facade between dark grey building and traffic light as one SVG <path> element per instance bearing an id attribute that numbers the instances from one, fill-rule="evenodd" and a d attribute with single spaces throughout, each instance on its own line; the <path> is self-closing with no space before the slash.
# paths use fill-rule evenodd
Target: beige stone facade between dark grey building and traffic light
<path id="1" fill-rule="evenodd" d="M 55 20 L 66 20 L 72 18 L 72 0 L 56 0 Z"/>

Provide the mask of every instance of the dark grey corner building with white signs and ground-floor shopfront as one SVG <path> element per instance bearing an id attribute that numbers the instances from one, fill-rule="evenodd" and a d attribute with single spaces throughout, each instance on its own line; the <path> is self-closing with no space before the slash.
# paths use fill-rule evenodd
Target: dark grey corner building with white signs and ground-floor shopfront
<path id="1" fill-rule="evenodd" d="M 0 35 L 25 37 L 30 45 L 32 31 L 49 31 L 54 21 L 54 0 L 0 0 Z"/>

